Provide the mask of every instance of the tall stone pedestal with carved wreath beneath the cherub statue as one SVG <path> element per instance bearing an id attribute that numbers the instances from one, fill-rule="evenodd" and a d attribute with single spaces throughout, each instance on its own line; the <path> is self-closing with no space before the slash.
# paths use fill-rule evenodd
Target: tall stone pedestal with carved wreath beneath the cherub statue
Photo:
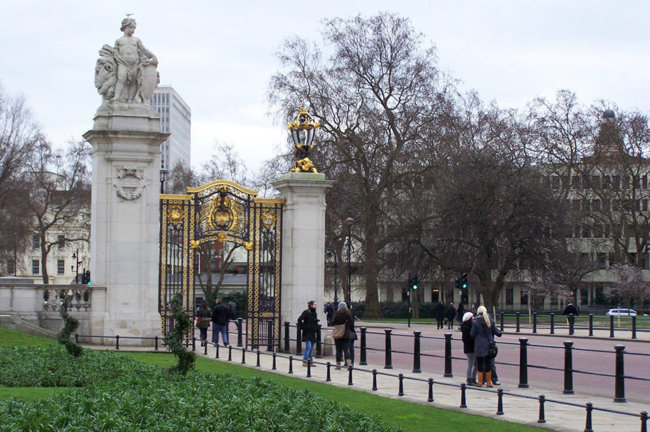
<path id="1" fill-rule="evenodd" d="M 103 106 L 84 134 L 92 144 L 90 271 L 93 285 L 106 286 L 106 308 L 96 312 L 105 336 L 161 333 L 160 144 L 168 135 L 154 108 L 133 104 Z"/>

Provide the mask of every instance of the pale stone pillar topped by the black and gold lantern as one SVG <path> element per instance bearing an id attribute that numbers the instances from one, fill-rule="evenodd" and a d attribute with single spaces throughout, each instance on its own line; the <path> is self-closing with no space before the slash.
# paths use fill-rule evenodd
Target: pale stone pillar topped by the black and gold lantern
<path id="1" fill-rule="evenodd" d="M 272 183 L 286 201 L 282 215 L 283 323 L 295 325 L 308 301 L 315 300 L 320 324 L 327 326 L 323 312 L 325 194 L 333 183 L 316 173 L 289 173 Z M 292 333 L 294 338 L 295 329 Z"/>

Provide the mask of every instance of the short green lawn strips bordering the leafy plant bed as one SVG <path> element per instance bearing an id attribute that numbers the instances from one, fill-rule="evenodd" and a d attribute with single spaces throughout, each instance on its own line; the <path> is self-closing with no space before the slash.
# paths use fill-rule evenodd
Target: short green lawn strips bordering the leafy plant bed
<path id="1" fill-rule="evenodd" d="M 14 345 L 47 345 L 53 343 L 43 338 L 35 338 L 24 333 L 0 329 L 0 346 Z M 175 364 L 171 354 L 147 352 L 121 352 L 161 367 Z M 196 370 L 212 373 L 230 373 L 240 377 L 263 377 L 266 380 L 277 382 L 294 389 L 308 389 L 316 396 L 338 401 L 348 405 L 353 410 L 368 415 L 378 415 L 388 426 L 397 426 L 405 431 L 458 431 L 458 430 L 485 430 L 485 431 L 533 431 L 540 430 L 522 424 L 503 422 L 488 417 L 477 417 L 450 410 L 442 410 L 431 406 L 384 398 L 364 391 L 334 387 L 318 382 L 310 382 L 285 375 L 266 373 L 263 370 L 246 368 L 233 363 L 225 363 L 205 357 L 198 357 Z M 0 387 L 0 400 L 19 398 L 24 401 L 34 401 L 38 398 L 51 396 L 56 391 L 65 391 L 64 388 L 34 388 L 34 387 Z"/>

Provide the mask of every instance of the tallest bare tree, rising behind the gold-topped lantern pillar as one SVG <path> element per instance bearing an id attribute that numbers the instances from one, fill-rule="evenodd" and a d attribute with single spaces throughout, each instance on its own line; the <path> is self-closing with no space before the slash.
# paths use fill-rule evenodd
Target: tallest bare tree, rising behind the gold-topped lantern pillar
<path id="1" fill-rule="evenodd" d="M 312 159 L 338 180 L 328 200 L 340 196 L 340 207 L 328 202 L 330 241 L 340 244 L 347 230 L 338 227 L 352 217 L 366 316 L 380 317 L 380 254 L 401 229 L 393 224 L 398 209 L 388 207 L 387 197 L 421 171 L 428 152 L 417 150 L 430 145 L 431 131 L 448 108 L 449 82 L 435 67 L 435 48 L 397 15 L 336 18 L 324 23 L 323 36 L 332 52 L 328 59 L 301 38 L 284 43 L 269 100 L 285 120 L 306 104 L 322 124 Z"/>

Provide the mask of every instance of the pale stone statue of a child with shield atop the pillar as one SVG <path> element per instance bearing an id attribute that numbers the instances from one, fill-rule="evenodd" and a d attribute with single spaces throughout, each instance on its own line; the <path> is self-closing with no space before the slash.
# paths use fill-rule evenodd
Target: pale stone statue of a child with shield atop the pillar
<path id="1" fill-rule="evenodd" d="M 104 103 L 148 103 L 159 82 L 158 59 L 133 36 L 136 20 L 124 18 L 120 30 L 124 36 L 115 41 L 115 46 L 103 45 L 99 50 L 95 87 Z"/>

